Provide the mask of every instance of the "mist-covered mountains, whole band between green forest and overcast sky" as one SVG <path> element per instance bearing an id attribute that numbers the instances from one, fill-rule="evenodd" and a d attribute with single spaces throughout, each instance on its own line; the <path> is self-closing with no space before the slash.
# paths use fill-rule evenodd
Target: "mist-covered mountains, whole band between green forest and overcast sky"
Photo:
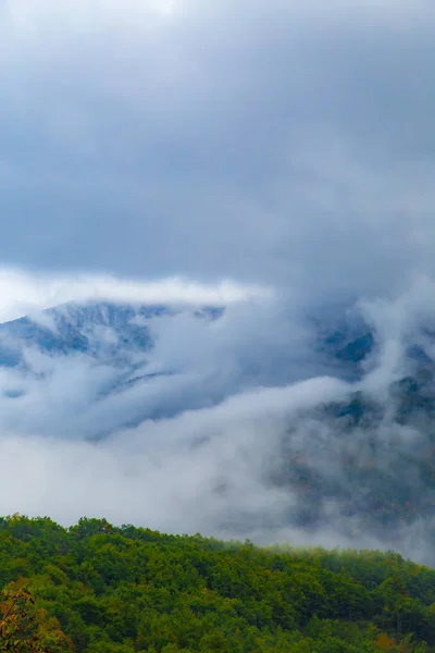
<path id="1" fill-rule="evenodd" d="M 1 324 L 1 448 L 46 488 L 23 505 L 433 560 L 431 293 L 309 311 L 73 303 Z"/>

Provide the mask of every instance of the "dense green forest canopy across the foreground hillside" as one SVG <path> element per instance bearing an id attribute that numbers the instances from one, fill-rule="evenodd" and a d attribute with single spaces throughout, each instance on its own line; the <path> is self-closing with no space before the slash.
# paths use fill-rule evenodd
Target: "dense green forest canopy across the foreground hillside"
<path id="1" fill-rule="evenodd" d="M 13 516 L 0 519 L 0 651 L 435 651 L 435 571 L 393 552 Z"/>

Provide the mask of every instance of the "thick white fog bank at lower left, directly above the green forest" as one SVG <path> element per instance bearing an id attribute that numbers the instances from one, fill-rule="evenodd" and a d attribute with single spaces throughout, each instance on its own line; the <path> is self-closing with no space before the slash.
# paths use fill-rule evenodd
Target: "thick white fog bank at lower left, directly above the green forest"
<path id="1" fill-rule="evenodd" d="M 105 515 L 117 523 L 209 532 L 225 521 L 229 507 L 234 514 L 278 515 L 288 508 L 288 496 L 268 490 L 261 475 L 285 417 L 296 406 L 309 407 L 344 391 L 344 384 L 328 379 L 258 390 L 214 408 L 146 421 L 97 445 L 65 442 L 61 434 L 3 433 L 0 514 L 49 512 L 64 523 L 83 514 Z M 21 479 L 16 488 L 15 478 Z M 3 492 L 11 482 L 14 492 Z M 217 491 L 226 484 L 229 496 Z"/>

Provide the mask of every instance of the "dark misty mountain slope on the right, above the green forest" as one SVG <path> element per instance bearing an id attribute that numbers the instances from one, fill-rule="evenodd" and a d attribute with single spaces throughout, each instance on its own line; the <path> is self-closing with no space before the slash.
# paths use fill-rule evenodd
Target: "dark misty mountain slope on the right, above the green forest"
<path id="1" fill-rule="evenodd" d="M 290 419 L 271 482 L 296 502 L 288 521 L 315 532 L 334 523 L 351 540 L 390 546 L 435 542 L 435 360 L 433 333 L 407 334 L 397 368 L 378 374 L 382 344 L 361 325 L 332 331 L 319 350 L 339 362 L 349 393 Z M 307 438 L 301 439 L 301 433 Z M 420 533 L 420 535 L 418 534 Z M 414 544 L 417 547 L 418 544 Z M 435 555 L 425 553 L 435 562 Z"/>

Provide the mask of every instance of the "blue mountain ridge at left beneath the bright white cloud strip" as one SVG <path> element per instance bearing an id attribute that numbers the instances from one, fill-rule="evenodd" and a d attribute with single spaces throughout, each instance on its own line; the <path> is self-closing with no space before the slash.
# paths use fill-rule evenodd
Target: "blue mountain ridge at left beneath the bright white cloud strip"
<path id="1" fill-rule="evenodd" d="M 41 360 L 70 361 L 82 357 L 90 366 L 112 370 L 110 391 L 114 391 L 141 379 L 172 373 L 171 369 L 149 369 L 159 320 L 189 315 L 213 321 L 222 313 L 222 308 L 208 306 L 70 303 L 1 323 L 0 368 L 44 379 L 49 372 L 47 365 L 40 366 Z"/>

